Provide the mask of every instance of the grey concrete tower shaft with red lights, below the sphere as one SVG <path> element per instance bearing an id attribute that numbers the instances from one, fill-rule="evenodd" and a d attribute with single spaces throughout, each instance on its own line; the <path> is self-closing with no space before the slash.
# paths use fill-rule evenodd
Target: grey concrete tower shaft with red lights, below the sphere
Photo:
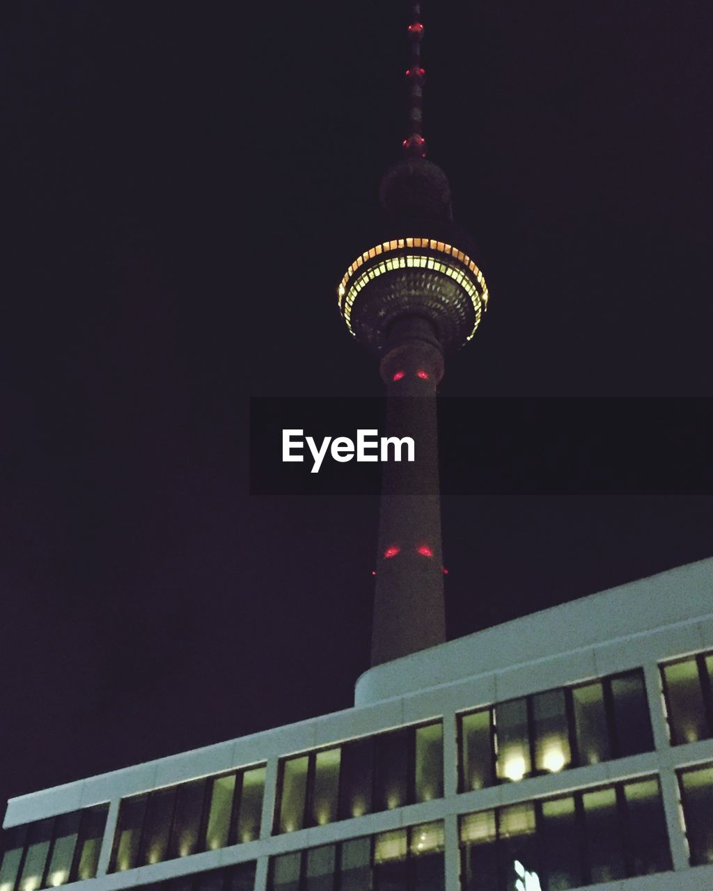
<path id="1" fill-rule="evenodd" d="M 382 465 L 372 665 L 446 641 L 436 405 L 442 377 L 432 325 L 417 316 L 393 323 L 381 361 L 386 435 L 412 437 L 416 460 Z"/>

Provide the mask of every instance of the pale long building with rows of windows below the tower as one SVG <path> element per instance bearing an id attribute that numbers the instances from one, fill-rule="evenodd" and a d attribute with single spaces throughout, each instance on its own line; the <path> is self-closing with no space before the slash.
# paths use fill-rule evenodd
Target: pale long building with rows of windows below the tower
<path id="1" fill-rule="evenodd" d="M 354 708 L 13 798 L 0 891 L 713 888 L 713 560 L 373 667 Z"/>

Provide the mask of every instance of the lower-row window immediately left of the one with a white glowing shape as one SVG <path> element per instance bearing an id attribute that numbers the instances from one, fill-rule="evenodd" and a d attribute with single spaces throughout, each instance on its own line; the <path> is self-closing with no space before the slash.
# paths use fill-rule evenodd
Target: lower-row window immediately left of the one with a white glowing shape
<path id="1" fill-rule="evenodd" d="M 270 859 L 269 891 L 443 891 L 443 823 L 422 823 Z"/>

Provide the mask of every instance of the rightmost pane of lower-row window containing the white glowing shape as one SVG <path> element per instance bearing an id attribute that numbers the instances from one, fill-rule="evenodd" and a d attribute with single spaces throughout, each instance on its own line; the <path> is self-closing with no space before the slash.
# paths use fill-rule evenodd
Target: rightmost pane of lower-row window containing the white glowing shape
<path id="1" fill-rule="evenodd" d="M 670 870 L 671 854 L 659 781 L 629 782 L 624 787 L 624 795 L 627 798 L 629 858 L 635 875 Z"/>

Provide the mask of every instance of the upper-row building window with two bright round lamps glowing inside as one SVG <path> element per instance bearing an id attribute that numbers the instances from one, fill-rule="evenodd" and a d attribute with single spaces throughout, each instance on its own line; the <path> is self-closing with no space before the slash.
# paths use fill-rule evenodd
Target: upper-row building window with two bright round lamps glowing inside
<path id="1" fill-rule="evenodd" d="M 459 719 L 462 792 L 651 751 L 643 672 L 510 699 Z"/>

